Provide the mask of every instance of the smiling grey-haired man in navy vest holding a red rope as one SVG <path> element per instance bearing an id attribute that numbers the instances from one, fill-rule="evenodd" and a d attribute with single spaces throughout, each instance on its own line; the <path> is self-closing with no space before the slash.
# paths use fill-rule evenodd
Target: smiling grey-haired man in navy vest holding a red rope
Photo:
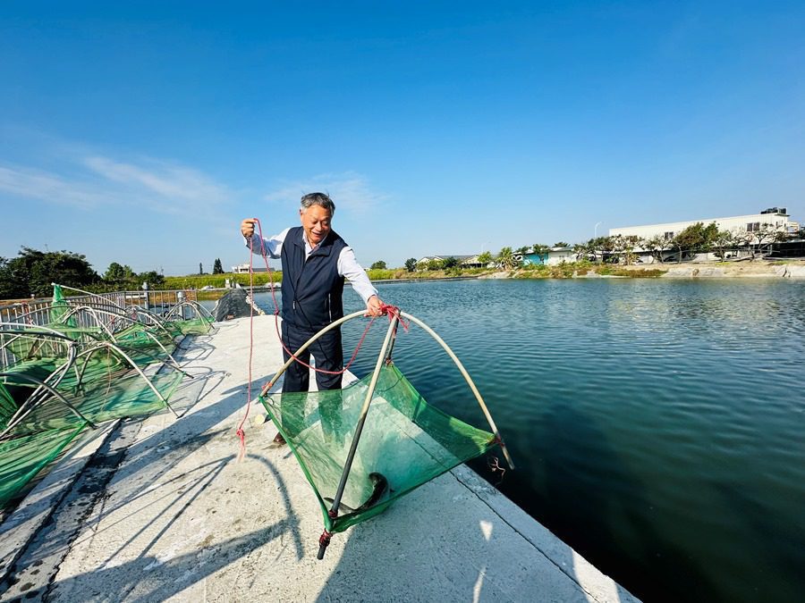
<path id="1" fill-rule="evenodd" d="M 252 253 L 265 250 L 268 257 L 280 258 L 283 265 L 283 330 L 285 348 L 297 349 L 331 322 L 343 317 L 343 280 L 352 283 L 352 289 L 366 303 L 369 316 L 383 314 L 383 302 L 377 297 L 366 271 L 355 259 L 352 248 L 332 230 L 335 204 L 324 193 L 310 193 L 301 197 L 299 216 L 301 226 L 288 228 L 270 239 L 263 239 L 254 231 L 255 220 L 247 218 L 241 223 L 241 233 Z M 310 354 L 316 367 L 326 371 L 341 371 L 343 349 L 341 329 L 327 331 L 307 350 L 297 356 L 309 364 Z M 290 357 L 283 351 L 285 361 Z M 341 389 L 339 374 L 316 373 L 318 389 Z M 300 363 L 292 363 L 285 371 L 283 393 L 308 391 L 309 371 Z M 284 443 L 277 434 L 277 443 Z"/>

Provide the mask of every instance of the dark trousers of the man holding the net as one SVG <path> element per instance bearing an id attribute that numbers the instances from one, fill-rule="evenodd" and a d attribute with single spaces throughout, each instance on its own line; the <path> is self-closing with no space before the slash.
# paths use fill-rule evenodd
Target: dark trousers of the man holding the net
<path id="1" fill-rule="evenodd" d="M 324 335 L 313 342 L 309 348 L 296 355 L 296 350 L 301 348 L 305 342 L 313 337 L 315 332 L 300 329 L 295 325 L 283 322 L 283 343 L 285 348 L 290 349 L 294 355 L 302 362 L 310 364 L 310 355 L 316 358 L 316 368 L 325 371 L 340 371 L 343 369 L 343 349 L 341 347 L 341 328 L 336 327 L 332 331 L 327 331 Z M 285 362 L 291 356 L 283 350 Z M 341 389 L 341 373 L 331 375 L 327 373 L 316 373 L 316 384 L 318 389 Z M 310 373 L 307 366 L 298 362 L 292 363 L 285 371 L 283 383 L 283 393 L 292 391 L 308 391 L 310 387 Z"/>

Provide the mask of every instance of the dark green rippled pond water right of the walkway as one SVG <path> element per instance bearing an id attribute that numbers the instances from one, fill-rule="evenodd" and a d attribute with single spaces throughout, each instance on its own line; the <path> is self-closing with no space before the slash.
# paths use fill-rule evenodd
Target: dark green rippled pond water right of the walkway
<path id="1" fill-rule="evenodd" d="M 518 465 L 498 488 L 606 574 L 649 600 L 802 600 L 805 282 L 378 289 L 478 384 Z M 352 291 L 344 299 L 360 309 Z M 269 295 L 257 301 L 273 312 Z M 352 366 L 359 376 L 385 323 Z M 347 356 L 364 325 L 345 328 Z M 428 401 L 486 426 L 427 334 L 402 333 L 394 359 Z"/>

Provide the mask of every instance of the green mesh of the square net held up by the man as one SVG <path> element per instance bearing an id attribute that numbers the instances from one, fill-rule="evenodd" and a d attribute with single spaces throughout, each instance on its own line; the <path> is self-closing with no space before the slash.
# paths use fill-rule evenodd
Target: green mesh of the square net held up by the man
<path id="1" fill-rule="evenodd" d="M 394 364 L 386 365 L 360 434 L 342 507 L 331 518 L 327 511 L 370 379 L 340 390 L 260 397 L 313 487 L 328 532 L 343 532 L 381 513 L 394 499 L 496 444 L 492 433 L 429 406 Z"/>

